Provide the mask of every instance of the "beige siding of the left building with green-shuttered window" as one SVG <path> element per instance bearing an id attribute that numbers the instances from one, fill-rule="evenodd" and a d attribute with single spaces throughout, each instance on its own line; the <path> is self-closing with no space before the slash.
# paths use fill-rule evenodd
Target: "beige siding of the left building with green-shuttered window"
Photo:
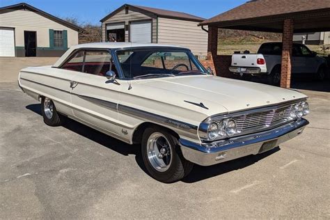
<path id="1" fill-rule="evenodd" d="M 24 56 L 24 31 L 36 31 L 37 56 L 61 56 L 65 48 L 52 49 L 49 45 L 49 29 L 67 31 L 68 47 L 78 44 L 78 31 L 54 22 L 31 10 L 8 10 L 0 14 L 0 26 L 15 29 L 16 56 Z"/>

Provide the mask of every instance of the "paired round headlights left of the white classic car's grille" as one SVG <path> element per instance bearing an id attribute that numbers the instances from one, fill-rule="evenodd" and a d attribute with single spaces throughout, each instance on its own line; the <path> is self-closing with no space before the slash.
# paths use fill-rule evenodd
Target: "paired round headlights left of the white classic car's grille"
<path id="1" fill-rule="evenodd" d="M 206 138 L 213 141 L 219 138 L 233 136 L 236 133 L 236 122 L 233 118 L 226 118 L 207 125 Z"/>

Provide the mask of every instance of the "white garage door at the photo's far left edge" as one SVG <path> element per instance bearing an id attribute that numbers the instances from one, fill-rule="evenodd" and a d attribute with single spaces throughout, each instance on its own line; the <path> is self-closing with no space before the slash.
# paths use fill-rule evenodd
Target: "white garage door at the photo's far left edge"
<path id="1" fill-rule="evenodd" d="M 15 56 L 14 29 L 0 28 L 0 56 Z"/>

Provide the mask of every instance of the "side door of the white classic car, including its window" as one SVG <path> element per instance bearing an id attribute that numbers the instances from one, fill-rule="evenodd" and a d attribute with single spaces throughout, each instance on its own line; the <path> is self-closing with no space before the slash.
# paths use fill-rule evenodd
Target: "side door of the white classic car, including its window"
<path id="1" fill-rule="evenodd" d="M 116 136 L 121 85 L 107 79 L 112 68 L 108 50 L 84 50 L 82 71 L 72 79 L 71 102 L 74 118 Z"/>

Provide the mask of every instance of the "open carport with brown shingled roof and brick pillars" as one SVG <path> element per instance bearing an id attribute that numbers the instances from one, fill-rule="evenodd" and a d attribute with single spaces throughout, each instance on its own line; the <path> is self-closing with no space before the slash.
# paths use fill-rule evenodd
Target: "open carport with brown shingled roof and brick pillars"
<path id="1" fill-rule="evenodd" d="M 230 77 L 230 56 L 217 54 L 218 29 L 283 33 L 281 87 L 290 88 L 293 33 L 330 31 L 330 0 L 254 0 L 199 24 L 208 26 L 207 60 Z"/>

